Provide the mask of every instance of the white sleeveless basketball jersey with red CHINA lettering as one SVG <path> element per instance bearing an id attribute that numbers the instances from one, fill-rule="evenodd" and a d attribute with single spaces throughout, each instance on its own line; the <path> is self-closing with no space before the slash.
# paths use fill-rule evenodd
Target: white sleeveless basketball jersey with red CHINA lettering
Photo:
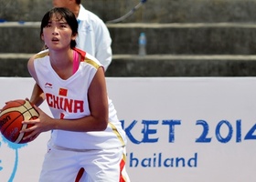
<path id="1" fill-rule="evenodd" d="M 88 103 L 88 89 L 91 80 L 101 66 L 93 56 L 83 54 L 78 71 L 69 79 L 61 79 L 50 65 L 48 50 L 37 54 L 35 70 L 38 85 L 44 91 L 46 101 L 55 118 L 76 119 L 91 114 Z M 103 149 L 123 147 L 125 132 L 116 116 L 116 110 L 109 99 L 109 124 L 100 132 L 71 132 L 53 130 L 50 143 L 56 147 L 71 149 Z"/>

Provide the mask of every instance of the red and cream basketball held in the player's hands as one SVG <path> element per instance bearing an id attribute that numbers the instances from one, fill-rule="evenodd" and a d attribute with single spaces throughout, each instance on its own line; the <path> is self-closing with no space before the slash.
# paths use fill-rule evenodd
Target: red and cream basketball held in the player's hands
<path id="1" fill-rule="evenodd" d="M 0 113 L 1 134 L 7 140 L 16 144 L 30 142 L 33 139 L 23 139 L 29 133 L 19 133 L 19 131 L 33 125 L 22 124 L 21 122 L 36 119 L 38 116 L 37 110 L 27 100 L 17 99 L 6 102 Z"/>

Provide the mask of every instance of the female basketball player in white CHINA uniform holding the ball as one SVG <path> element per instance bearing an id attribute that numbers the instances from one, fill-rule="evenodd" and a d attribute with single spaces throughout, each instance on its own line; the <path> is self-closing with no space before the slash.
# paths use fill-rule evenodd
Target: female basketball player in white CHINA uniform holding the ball
<path id="1" fill-rule="evenodd" d="M 30 101 L 39 118 L 22 131 L 37 137 L 51 131 L 40 182 L 129 181 L 125 173 L 125 133 L 107 96 L 104 70 L 93 56 L 77 49 L 78 22 L 66 8 L 53 8 L 41 22 L 48 49 L 32 56 L 28 71 L 36 81 Z M 46 100 L 52 116 L 39 106 Z M 25 138 L 26 139 L 26 138 Z"/>

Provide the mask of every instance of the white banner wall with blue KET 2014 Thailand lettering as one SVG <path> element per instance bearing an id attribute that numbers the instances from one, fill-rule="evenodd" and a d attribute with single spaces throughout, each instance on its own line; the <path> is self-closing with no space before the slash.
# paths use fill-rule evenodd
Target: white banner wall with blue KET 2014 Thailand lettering
<path id="1" fill-rule="evenodd" d="M 30 97 L 33 84 L 0 78 L 0 107 Z M 107 85 L 132 182 L 256 181 L 256 78 L 108 77 Z M 37 181 L 48 136 L 23 146 L 0 137 L 0 180 Z"/>

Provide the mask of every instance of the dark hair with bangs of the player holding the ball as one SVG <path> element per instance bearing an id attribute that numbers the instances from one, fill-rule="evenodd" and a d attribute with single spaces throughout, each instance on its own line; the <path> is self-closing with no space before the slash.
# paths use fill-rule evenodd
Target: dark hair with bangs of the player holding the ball
<path id="1" fill-rule="evenodd" d="M 78 34 L 78 21 L 76 16 L 69 11 L 68 8 L 65 7 L 54 7 L 51 10 L 49 10 L 46 15 L 44 15 L 42 21 L 41 21 L 41 31 L 40 31 L 40 36 L 43 34 L 43 29 L 48 25 L 48 21 L 52 17 L 52 15 L 60 15 L 59 20 L 64 18 L 68 25 L 70 26 L 72 30 L 72 35 L 77 35 Z M 70 47 L 74 48 L 77 45 L 75 40 L 71 40 L 70 42 Z"/>

